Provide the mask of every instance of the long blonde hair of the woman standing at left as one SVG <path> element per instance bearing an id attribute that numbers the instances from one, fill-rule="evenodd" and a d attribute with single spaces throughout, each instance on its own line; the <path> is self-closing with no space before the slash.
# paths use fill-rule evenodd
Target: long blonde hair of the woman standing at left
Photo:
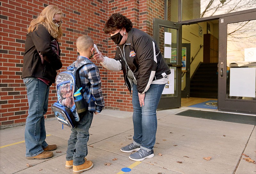
<path id="1" fill-rule="evenodd" d="M 45 7 L 39 16 L 31 21 L 28 27 L 28 33 L 37 30 L 38 25 L 42 24 L 48 30 L 50 35 L 58 40 L 62 36 L 62 29 L 61 25 L 58 27 L 52 21 L 53 16 L 56 14 L 63 16 L 62 11 L 55 5 L 48 5 Z"/>

